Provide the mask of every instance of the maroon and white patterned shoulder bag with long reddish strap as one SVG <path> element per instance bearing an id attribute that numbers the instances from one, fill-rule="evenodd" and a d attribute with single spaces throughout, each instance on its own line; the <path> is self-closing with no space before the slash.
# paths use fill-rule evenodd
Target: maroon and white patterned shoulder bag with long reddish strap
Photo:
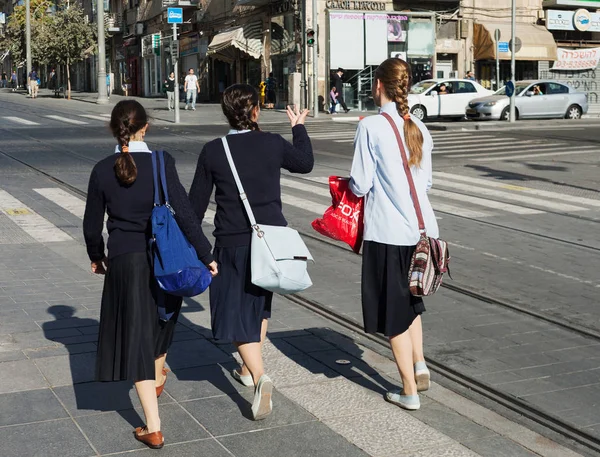
<path id="1" fill-rule="evenodd" d="M 408 285 L 411 295 L 415 297 L 425 297 L 427 295 L 433 295 L 436 290 L 442 284 L 442 277 L 444 273 L 450 274 L 448 263 L 450 262 L 450 254 L 448 253 L 448 243 L 439 238 L 431 238 L 427 236 L 425 232 L 425 222 L 423 221 L 423 214 L 421 213 L 421 205 L 417 197 L 417 191 L 415 189 L 415 183 L 408 166 L 408 156 L 404 149 L 404 143 L 402 137 L 398 131 L 396 123 L 387 113 L 382 115 L 389 121 L 390 125 L 394 129 L 396 140 L 398 141 L 398 147 L 402 154 L 402 163 L 404 165 L 404 171 L 406 172 L 406 179 L 410 187 L 410 196 L 413 204 L 415 205 L 415 211 L 417 213 L 417 220 L 419 221 L 419 233 L 421 238 L 417 243 L 415 252 L 413 253 L 410 261 L 410 268 L 408 270 Z"/>

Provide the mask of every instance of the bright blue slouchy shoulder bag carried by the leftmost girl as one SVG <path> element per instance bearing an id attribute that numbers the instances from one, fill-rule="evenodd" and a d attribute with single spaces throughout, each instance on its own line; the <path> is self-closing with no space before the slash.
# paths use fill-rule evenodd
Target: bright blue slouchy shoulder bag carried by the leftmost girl
<path id="1" fill-rule="evenodd" d="M 157 165 L 157 157 L 159 165 Z M 164 204 L 160 199 L 158 170 Z M 154 172 L 154 209 L 152 210 L 152 238 L 150 252 L 154 276 L 162 290 L 179 297 L 193 297 L 204 292 L 212 280 L 208 268 L 198 259 L 196 250 L 187 240 L 169 204 L 165 159 L 163 151 L 152 153 Z"/>

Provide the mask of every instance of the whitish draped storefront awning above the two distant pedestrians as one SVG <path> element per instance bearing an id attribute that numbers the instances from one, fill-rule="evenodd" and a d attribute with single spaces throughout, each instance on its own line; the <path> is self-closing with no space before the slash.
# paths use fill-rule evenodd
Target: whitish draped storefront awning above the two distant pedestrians
<path id="1" fill-rule="evenodd" d="M 228 51 L 239 49 L 255 59 L 263 53 L 262 22 L 257 21 L 216 35 L 208 45 L 208 55 L 220 54 L 229 60 Z"/>

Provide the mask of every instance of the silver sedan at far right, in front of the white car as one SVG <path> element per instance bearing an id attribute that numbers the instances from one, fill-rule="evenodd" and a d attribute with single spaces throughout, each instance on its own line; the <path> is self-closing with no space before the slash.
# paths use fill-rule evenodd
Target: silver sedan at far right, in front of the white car
<path id="1" fill-rule="evenodd" d="M 466 114 L 469 119 L 508 120 L 509 105 L 503 87 L 492 96 L 471 100 Z M 515 109 L 517 119 L 580 119 L 587 113 L 588 100 L 587 94 L 558 81 L 520 81 L 515 86 Z"/>

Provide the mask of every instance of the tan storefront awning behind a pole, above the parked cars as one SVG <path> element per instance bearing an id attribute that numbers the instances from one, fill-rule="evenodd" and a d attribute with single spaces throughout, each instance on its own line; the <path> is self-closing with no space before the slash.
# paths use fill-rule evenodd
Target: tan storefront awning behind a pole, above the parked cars
<path id="1" fill-rule="evenodd" d="M 473 44 L 475 60 L 495 60 L 497 45 L 494 39 L 495 30 L 500 30 L 500 42 L 509 42 L 511 38 L 510 22 L 480 22 L 473 24 Z M 515 31 L 521 40 L 521 49 L 516 52 L 516 60 L 556 60 L 556 43 L 552 33 L 546 28 L 517 23 Z M 501 60 L 510 59 L 510 51 L 499 52 Z"/>

